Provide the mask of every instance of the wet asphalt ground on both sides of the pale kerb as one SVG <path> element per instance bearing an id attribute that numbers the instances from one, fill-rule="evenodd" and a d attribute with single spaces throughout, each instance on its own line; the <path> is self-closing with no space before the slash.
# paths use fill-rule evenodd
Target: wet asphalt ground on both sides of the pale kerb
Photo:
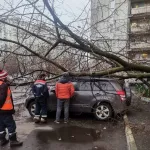
<path id="1" fill-rule="evenodd" d="M 128 113 L 138 150 L 150 148 L 150 103 L 133 97 Z M 124 122 L 119 119 L 96 121 L 93 115 L 71 115 L 69 124 L 55 124 L 50 113 L 48 124 L 35 125 L 23 105 L 16 107 L 14 116 L 19 138 L 24 145 L 0 150 L 127 150 Z"/>

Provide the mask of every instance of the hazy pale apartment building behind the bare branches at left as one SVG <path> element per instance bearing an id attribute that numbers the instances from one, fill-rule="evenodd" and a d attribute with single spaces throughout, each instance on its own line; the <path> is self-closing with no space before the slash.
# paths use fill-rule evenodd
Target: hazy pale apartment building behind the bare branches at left
<path id="1" fill-rule="evenodd" d="M 10 24 L 22 27 L 23 29 L 26 29 L 30 31 L 31 33 L 38 34 L 39 36 L 43 38 L 51 38 L 50 29 L 45 24 L 41 23 L 31 23 L 27 21 L 20 20 L 20 18 L 0 18 L 1 20 L 4 20 L 5 22 L 8 22 Z M 48 32 L 49 31 L 49 32 Z M 42 45 L 42 41 L 35 36 L 32 36 L 30 33 L 27 33 L 19 28 L 13 27 L 11 25 L 7 25 L 5 23 L 0 22 L 0 37 L 4 39 L 9 39 L 13 41 L 18 41 L 28 47 L 30 47 L 32 50 L 38 50 L 40 48 L 40 45 Z M 0 41 L 0 48 L 4 49 L 4 47 L 11 48 L 14 44 L 9 42 Z M 6 49 L 5 48 L 5 49 Z"/>

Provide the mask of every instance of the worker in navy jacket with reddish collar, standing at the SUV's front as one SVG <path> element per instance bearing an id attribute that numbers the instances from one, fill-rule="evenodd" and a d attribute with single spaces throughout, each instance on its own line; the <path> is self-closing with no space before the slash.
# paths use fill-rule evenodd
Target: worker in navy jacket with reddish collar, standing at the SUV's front
<path id="1" fill-rule="evenodd" d="M 32 91 L 35 97 L 35 123 L 45 123 L 47 119 L 47 99 L 49 97 L 48 87 L 45 81 L 46 75 L 41 74 L 39 79 L 35 81 Z"/>

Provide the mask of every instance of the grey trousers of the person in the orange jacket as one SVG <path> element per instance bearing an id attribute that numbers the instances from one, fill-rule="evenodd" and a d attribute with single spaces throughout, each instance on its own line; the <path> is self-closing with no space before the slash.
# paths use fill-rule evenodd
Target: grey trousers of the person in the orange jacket
<path id="1" fill-rule="evenodd" d="M 64 121 L 69 118 L 69 99 L 57 99 L 56 121 L 60 121 L 60 115 L 64 104 Z"/>

